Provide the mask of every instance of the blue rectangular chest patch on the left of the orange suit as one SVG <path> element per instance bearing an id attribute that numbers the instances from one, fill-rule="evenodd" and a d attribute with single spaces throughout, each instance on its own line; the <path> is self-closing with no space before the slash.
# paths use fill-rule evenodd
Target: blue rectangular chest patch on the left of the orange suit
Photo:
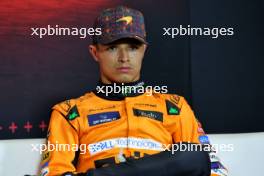
<path id="1" fill-rule="evenodd" d="M 120 114 L 118 111 L 103 112 L 98 114 L 88 115 L 89 126 L 99 125 L 102 123 L 112 122 L 120 119 Z"/>

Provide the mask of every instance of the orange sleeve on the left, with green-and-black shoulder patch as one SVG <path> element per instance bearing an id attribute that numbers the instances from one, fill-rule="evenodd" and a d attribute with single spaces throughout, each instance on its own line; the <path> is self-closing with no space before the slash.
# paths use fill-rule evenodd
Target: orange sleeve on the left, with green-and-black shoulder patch
<path id="1" fill-rule="evenodd" d="M 76 171 L 74 161 L 77 157 L 78 125 L 74 118 L 78 115 L 76 106 L 74 109 L 65 104 L 53 107 L 47 141 L 43 148 L 45 151 L 40 165 L 41 176 L 62 175 Z"/>

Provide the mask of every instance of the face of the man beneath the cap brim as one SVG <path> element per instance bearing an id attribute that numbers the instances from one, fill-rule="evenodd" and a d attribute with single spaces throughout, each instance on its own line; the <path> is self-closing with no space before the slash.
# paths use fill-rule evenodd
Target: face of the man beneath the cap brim
<path id="1" fill-rule="evenodd" d="M 136 39 L 120 39 L 113 43 L 90 45 L 99 63 L 103 83 L 129 83 L 140 78 L 146 45 Z"/>

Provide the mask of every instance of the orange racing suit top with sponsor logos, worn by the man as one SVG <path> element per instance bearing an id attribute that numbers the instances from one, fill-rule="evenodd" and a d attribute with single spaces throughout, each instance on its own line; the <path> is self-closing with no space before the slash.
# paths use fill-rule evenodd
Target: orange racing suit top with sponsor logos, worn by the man
<path id="1" fill-rule="evenodd" d="M 52 109 L 43 176 L 86 173 L 159 153 L 173 143 L 209 143 L 190 106 L 178 95 L 143 93 L 119 99 L 94 91 Z M 226 175 L 213 151 L 210 156 L 211 176 Z"/>

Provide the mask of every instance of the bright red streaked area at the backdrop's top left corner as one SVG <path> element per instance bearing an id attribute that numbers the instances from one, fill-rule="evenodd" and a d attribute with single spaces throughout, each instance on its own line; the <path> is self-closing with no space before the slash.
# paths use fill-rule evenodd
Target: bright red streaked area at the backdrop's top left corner
<path id="1" fill-rule="evenodd" d="M 91 22 L 100 10 L 117 3 L 111 0 L 1 0 L 0 35 L 28 34 L 30 27 L 48 24 L 83 25 Z"/>

